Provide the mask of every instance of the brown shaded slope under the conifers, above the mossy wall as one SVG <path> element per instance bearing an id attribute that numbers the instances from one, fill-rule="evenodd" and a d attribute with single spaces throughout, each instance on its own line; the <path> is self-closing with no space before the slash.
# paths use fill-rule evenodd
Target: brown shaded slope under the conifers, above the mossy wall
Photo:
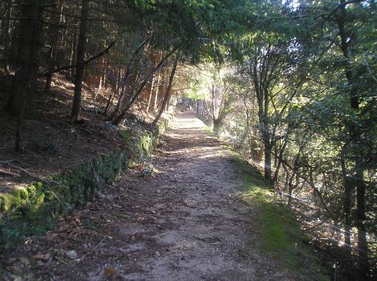
<path id="1" fill-rule="evenodd" d="M 96 89 L 94 96 L 84 84 L 81 120 L 82 124 L 72 124 L 70 113 L 73 100 L 73 83 L 56 75 L 51 90 L 43 92 L 43 81 L 39 81 L 36 105 L 37 112 L 33 118 L 25 118 L 23 124 L 22 153 L 14 152 L 14 134 L 16 118 L 3 110 L 12 89 L 12 77 L 0 75 L 0 159 L 10 161 L 13 165 L 25 169 L 32 176 L 45 178 L 71 170 L 80 163 L 118 148 L 127 150 L 124 137 L 119 129 L 129 130 L 136 127 L 148 129 L 143 120 L 135 121 L 137 110 L 127 116 L 132 124 L 119 127 L 104 122 L 101 111 L 106 107 L 108 97 L 114 90 Z M 150 114 L 150 113 L 149 113 Z M 137 116 L 150 122 L 151 116 Z M 153 116 L 152 116 L 153 117 Z M 164 117 L 164 116 L 163 116 Z M 5 172 L 20 173 L 19 169 L 1 165 Z M 10 176 L 0 172 L 0 193 L 8 193 L 19 187 L 30 185 L 36 178 L 23 172 L 19 176 Z"/>

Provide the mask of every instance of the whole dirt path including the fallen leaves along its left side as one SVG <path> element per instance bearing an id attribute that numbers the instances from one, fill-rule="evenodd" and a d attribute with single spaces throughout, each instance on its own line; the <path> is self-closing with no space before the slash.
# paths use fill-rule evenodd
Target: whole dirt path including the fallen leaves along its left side
<path id="1" fill-rule="evenodd" d="M 258 210 L 240 199 L 243 177 L 231 152 L 194 113 L 178 113 L 160 144 L 154 173 L 127 171 L 86 208 L 27 241 L 3 260 L 7 276 L 299 280 L 281 269 L 283 260 L 253 246 L 260 238 Z"/>

